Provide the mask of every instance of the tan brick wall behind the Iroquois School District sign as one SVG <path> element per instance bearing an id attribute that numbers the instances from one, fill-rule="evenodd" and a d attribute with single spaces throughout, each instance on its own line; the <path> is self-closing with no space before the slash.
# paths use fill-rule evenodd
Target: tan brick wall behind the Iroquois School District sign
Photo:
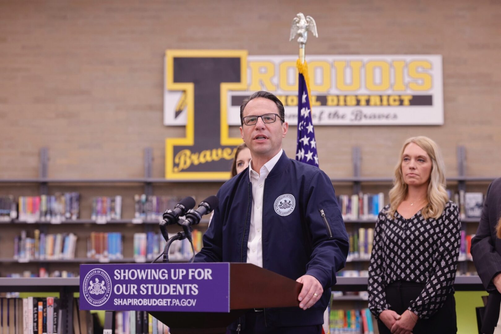
<path id="1" fill-rule="evenodd" d="M 437 141 L 447 175 L 464 145 L 467 174 L 496 176 L 501 155 L 501 2 L 444 1 L 0 1 L 0 178 L 36 177 L 49 147 L 49 177 L 164 175 L 164 139 L 184 136 L 162 122 L 166 49 L 246 49 L 296 54 L 288 42 L 298 12 L 320 38 L 308 54 L 441 54 L 445 124 L 317 127 L 321 167 L 351 176 L 391 176 L 404 139 Z M 286 138 L 295 152 L 295 131 Z M 232 134 L 237 129 L 231 129 Z M 332 144 L 327 144 L 330 140 Z"/>

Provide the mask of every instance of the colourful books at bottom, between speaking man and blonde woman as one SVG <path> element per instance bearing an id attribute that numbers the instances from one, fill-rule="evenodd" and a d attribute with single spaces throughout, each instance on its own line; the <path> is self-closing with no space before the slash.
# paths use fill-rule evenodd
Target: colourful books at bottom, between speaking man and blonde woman
<path id="1" fill-rule="evenodd" d="M 374 334 L 372 313 L 368 308 L 331 309 L 329 327 L 331 334 Z"/>

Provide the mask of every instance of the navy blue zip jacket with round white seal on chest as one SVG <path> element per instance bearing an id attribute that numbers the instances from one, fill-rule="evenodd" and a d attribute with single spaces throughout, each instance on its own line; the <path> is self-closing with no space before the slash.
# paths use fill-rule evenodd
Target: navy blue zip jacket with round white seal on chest
<path id="1" fill-rule="evenodd" d="M 280 205 L 277 199 L 284 194 L 294 196 L 295 206 L 288 215 L 279 215 L 275 204 Z M 252 208 L 248 168 L 224 183 L 217 197 L 219 206 L 195 262 L 246 262 Z M 322 297 L 307 310 L 265 309 L 267 325 L 322 324 L 330 287 L 336 283 L 336 271 L 346 264 L 349 248 L 334 188 L 322 170 L 282 153 L 265 182 L 262 241 L 264 268 L 294 280 L 312 275 L 324 287 Z"/>

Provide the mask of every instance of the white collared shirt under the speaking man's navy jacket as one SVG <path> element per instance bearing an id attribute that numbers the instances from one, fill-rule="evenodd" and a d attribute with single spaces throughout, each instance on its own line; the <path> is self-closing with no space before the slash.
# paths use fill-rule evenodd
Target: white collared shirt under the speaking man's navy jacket
<path id="1" fill-rule="evenodd" d="M 252 208 L 250 209 L 250 230 L 247 241 L 247 263 L 263 267 L 263 191 L 268 174 L 277 164 L 284 150 L 271 158 L 261 167 L 259 174 L 252 169 L 252 159 L 249 162 L 249 180 L 252 182 Z"/>

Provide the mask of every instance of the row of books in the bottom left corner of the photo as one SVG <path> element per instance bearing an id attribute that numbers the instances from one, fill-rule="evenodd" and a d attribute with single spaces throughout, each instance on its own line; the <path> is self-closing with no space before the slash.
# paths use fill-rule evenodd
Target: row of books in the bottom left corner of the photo
<path id="1" fill-rule="evenodd" d="M 57 334 L 61 332 L 60 301 L 56 297 L 0 298 L 3 333 Z"/>

